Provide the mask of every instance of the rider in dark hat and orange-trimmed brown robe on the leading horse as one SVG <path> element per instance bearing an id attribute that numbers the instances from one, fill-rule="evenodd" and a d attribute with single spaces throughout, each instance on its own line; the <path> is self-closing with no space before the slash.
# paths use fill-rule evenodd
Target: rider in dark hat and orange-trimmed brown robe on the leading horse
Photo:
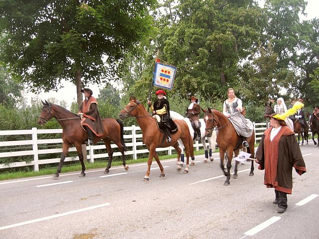
<path id="1" fill-rule="evenodd" d="M 89 144 L 93 144 L 94 134 L 103 135 L 103 123 L 98 111 L 98 102 L 92 96 L 92 90 L 84 88 L 81 92 L 84 93 L 85 99 L 79 107 L 78 115 L 81 116 L 83 128 L 88 132 Z"/>

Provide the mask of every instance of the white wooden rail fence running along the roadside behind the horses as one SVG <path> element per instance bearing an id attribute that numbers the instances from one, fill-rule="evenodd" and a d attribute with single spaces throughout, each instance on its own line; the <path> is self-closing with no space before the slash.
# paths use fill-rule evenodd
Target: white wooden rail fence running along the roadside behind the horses
<path id="1" fill-rule="evenodd" d="M 255 135 L 256 135 L 256 141 L 261 139 L 261 136 L 266 129 L 266 123 L 254 123 L 255 126 Z M 125 152 L 125 155 L 133 155 L 133 159 L 138 158 L 138 154 L 141 153 L 148 153 L 149 150 L 146 148 L 145 144 L 142 142 L 142 131 L 139 126 L 132 125 L 131 127 L 124 127 L 125 133 L 129 131 L 130 134 L 125 134 L 125 144 L 127 146 L 128 150 Z M 50 164 L 50 163 L 57 163 L 60 161 L 60 158 L 48 158 L 48 159 L 40 159 L 39 155 L 41 154 L 52 154 L 52 153 L 61 153 L 62 152 L 62 138 L 47 138 L 47 139 L 38 139 L 39 134 L 57 134 L 62 133 L 62 129 L 37 129 L 32 128 L 29 130 L 1 130 L 0 136 L 7 136 L 7 135 L 26 135 L 28 140 L 17 140 L 17 141 L 0 141 L 0 149 L 2 152 L 0 152 L 0 159 L 1 158 L 7 158 L 7 157 L 18 157 L 18 156 L 26 156 L 26 155 L 33 155 L 33 160 L 26 162 L 12 162 L 12 163 L 2 163 L 0 164 L 0 169 L 3 168 L 12 168 L 12 167 L 22 167 L 22 166 L 33 166 L 34 171 L 39 171 L 39 165 L 41 164 Z M 207 143 L 207 142 L 206 142 Z M 59 148 L 49 148 L 49 149 L 38 149 L 43 147 L 44 145 L 60 145 Z M 208 143 L 207 143 L 208 144 Z M 14 150 L 8 146 L 18 146 L 15 147 Z M 29 147 L 29 150 L 18 150 L 21 149 L 21 147 Z M 111 145 L 112 148 L 117 148 L 116 144 Z M 203 145 L 201 143 L 198 143 L 196 141 L 194 143 L 195 150 L 199 150 L 200 147 Z M 6 147 L 8 147 L 8 151 L 6 150 Z M 86 146 L 86 152 L 89 151 L 89 154 L 87 154 L 87 159 L 90 160 L 90 162 L 94 162 L 94 159 L 96 158 L 106 158 L 108 157 L 107 153 L 100 153 L 95 154 L 94 150 L 97 149 L 105 149 L 105 145 L 103 144 L 96 144 L 93 146 Z M 157 148 L 157 151 L 167 151 L 168 155 L 171 155 L 172 150 L 174 150 L 173 147 L 166 147 L 166 148 Z M 69 152 L 76 151 L 75 147 L 69 148 Z M 106 149 L 105 149 L 106 151 Z M 119 156 L 121 155 L 121 152 L 114 152 L 113 156 Z M 66 157 L 65 161 L 76 161 L 79 160 L 79 157 Z"/>

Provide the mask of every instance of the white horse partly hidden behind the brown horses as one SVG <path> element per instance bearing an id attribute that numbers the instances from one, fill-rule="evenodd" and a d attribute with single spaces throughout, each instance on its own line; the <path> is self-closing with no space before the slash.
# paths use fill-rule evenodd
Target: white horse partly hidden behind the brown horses
<path id="1" fill-rule="evenodd" d="M 187 123 L 187 125 L 188 125 L 190 135 L 192 136 L 192 138 L 194 137 L 194 129 L 191 126 L 190 120 L 188 118 L 182 117 L 181 115 L 179 115 L 177 112 L 174 112 L 174 111 L 169 111 L 169 114 L 170 114 L 170 117 L 172 119 L 182 119 L 182 120 L 184 120 Z M 212 151 L 215 152 L 216 137 L 217 136 L 216 136 L 216 131 L 212 130 L 212 135 L 210 137 L 206 137 L 205 136 L 205 128 L 206 128 L 205 121 L 204 121 L 204 119 L 199 119 L 199 121 L 201 123 L 201 125 L 200 125 L 200 136 L 201 136 L 201 138 L 200 138 L 200 140 L 201 140 L 201 142 L 203 144 L 203 147 L 204 147 L 204 150 L 205 150 L 204 163 L 207 163 L 208 149 L 207 149 L 207 145 L 206 145 L 206 138 L 207 138 L 208 143 L 209 143 L 209 160 L 213 161 L 214 158 L 212 157 Z M 196 138 L 193 138 L 193 141 L 194 140 L 196 140 Z M 182 166 L 183 162 L 184 162 L 184 145 L 183 145 L 183 143 L 181 142 L 180 139 L 178 139 L 178 143 L 179 143 L 179 148 L 181 150 L 180 166 Z M 194 162 L 195 162 L 195 158 L 192 158 L 190 165 L 194 165 L 195 164 Z"/>

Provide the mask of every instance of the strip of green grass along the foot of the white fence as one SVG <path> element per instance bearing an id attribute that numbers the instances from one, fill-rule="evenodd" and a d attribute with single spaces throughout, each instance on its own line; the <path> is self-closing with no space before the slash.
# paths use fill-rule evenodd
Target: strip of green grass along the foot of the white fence
<path id="1" fill-rule="evenodd" d="M 194 151 L 195 155 L 200 155 L 204 154 L 204 149 Z M 177 154 L 172 154 L 172 155 L 162 155 L 160 156 L 160 160 L 165 160 L 165 159 L 171 159 L 171 158 L 176 158 Z M 155 159 L 153 159 L 155 161 Z M 138 159 L 132 159 L 132 160 L 126 160 L 127 164 L 135 164 L 135 163 L 145 163 L 148 161 L 148 158 L 138 158 Z M 86 170 L 89 169 L 98 169 L 98 168 L 106 168 L 107 161 L 97 161 L 94 163 L 88 163 L 85 162 L 85 167 Z M 122 161 L 113 161 L 112 162 L 112 167 L 114 166 L 120 166 L 122 165 Z M 67 172 L 76 172 L 76 171 L 81 171 L 81 163 L 79 161 L 76 162 L 74 165 L 65 165 L 62 167 L 61 173 L 67 173 Z M 34 171 L 17 171 L 17 172 L 10 172 L 10 173 L 0 173 L 0 180 L 7 180 L 7 179 L 17 179 L 17 178 L 26 178 L 26 177 L 35 177 L 35 176 L 42 176 L 42 175 L 51 175 L 56 173 L 56 167 L 51 167 L 51 168 L 45 168 L 45 169 L 40 169 L 38 172 Z"/>

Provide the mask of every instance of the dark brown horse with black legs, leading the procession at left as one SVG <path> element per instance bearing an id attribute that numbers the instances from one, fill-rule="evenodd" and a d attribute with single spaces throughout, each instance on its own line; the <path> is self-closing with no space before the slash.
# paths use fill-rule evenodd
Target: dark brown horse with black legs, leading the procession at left
<path id="1" fill-rule="evenodd" d="M 45 103 L 42 101 L 42 104 L 43 108 L 40 116 L 38 117 L 37 122 L 42 125 L 54 117 L 63 129 L 62 155 L 56 174 L 54 174 L 54 177 L 59 177 L 59 173 L 61 172 L 64 159 L 67 156 L 69 147 L 71 147 L 71 145 L 74 145 L 76 147 L 76 151 L 78 152 L 79 160 L 82 165 L 82 172 L 80 177 L 84 177 L 85 165 L 83 162 L 81 144 L 83 144 L 87 140 L 88 136 L 87 132 L 81 126 L 81 118 L 73 114 L 72 112 L 69 112 L 61 106 L 48 103 L 47 101 L 45 101 Z M 94 135 L 94 143 L 102 139 L 108 151 L 109 161 L 104 173 L 109 173 L 109 169 L 111 168 L 113 155 L 111 141 L 113 141 L 119 147 L 122 153 L 123 166 L 125 170 L 128 170 L 129 166 L 126 165 L 124 157 L 125 143 L 123 138 L 122 121 L 120 119 L 106 118 L 102 119 L 102 122 L 104 127 L 103 135 L 101 137 Z"/>

